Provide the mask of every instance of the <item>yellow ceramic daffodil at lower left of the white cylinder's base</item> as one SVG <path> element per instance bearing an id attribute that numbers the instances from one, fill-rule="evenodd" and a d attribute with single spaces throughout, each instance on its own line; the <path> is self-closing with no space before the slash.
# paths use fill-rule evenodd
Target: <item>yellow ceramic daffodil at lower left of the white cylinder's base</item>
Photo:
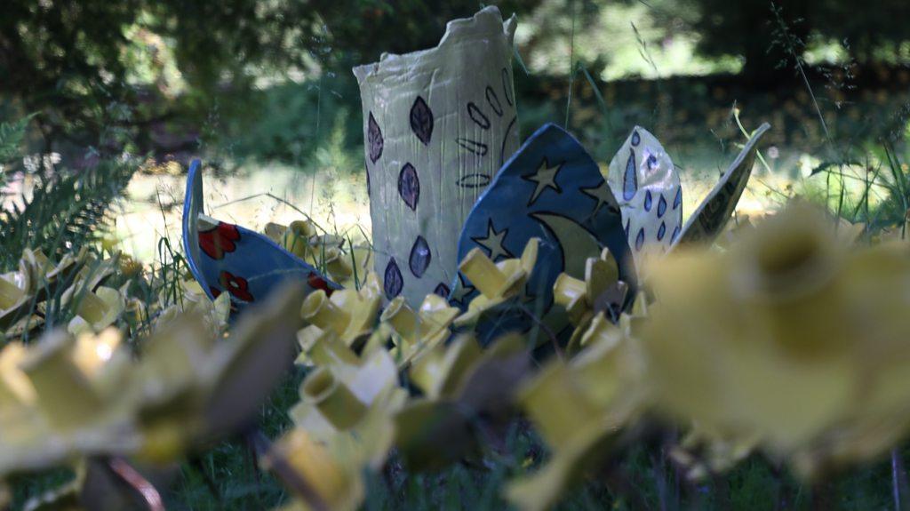
<path id="1" fill-rule="evenodd" d="M 372 273 L 359 290 L 341 289 L 331 296 L 321 289 L 310 293 L 300 309 L 308 326 L 298 332 L 298 364 L 307 365 L 311 351 L 322 343 L 340 342 L 359 350 L 372 335 L 381 303 L 379 278 Z"/>

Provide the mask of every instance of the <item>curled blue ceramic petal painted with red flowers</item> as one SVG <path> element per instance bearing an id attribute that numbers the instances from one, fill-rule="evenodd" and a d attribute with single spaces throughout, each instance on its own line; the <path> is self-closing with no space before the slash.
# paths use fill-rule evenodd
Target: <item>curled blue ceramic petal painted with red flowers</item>
<path id="1" fill-rule="evenodd" d="M 308 292 L 340 288 L 266 235 L 217 220 L 203 222 L 200 229 L 202 206 L 202 173 L 199 160 L 194 160 L 187 175 L 183 247 L 190 271 L 210 298 L 227 291 L 231 308 L 240 310 L 290 279 L 306 282 Z"/>

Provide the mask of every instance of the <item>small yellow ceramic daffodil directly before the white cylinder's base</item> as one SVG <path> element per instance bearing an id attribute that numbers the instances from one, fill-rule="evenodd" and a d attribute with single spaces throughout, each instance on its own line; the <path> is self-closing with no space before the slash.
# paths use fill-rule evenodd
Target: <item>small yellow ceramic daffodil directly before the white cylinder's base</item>
<path id="1" fill-rule="evenodd" d="M 409 365 L 421 350 L 445 342 L 450 336 L 449 326 L 459 313 L 457 307 L 450 306 L 445 298 L 436 294 L 427 295 L 417 312 L 402 296 L 393 299 L 379 320 L 388 324 L 395 334 L 392 356 L 399 367 Z"/>

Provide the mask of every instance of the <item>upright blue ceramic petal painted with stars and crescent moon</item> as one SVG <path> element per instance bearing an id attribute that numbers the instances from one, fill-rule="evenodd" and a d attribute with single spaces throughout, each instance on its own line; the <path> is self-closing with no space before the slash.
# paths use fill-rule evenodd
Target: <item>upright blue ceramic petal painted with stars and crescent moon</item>
<path id="1" fill-rule="evenodd" d="M 586 260 L 603 246 L 616 257 L 622 280 L 636 288 L 616 198 L 591 155 L 557 125 L 531 135 L 480 195 L 461 230 L 458 257 L 478 246 L 487 255 L 519 255 L 532 237 L 541 245 L 523 296 L 540 316 L 551 309 L 556 277 L 567 272 L 583 278 Z M 457 306 L 477 294 L 466 293 L 467 280 L 456 276 L 450 286 Z"/>

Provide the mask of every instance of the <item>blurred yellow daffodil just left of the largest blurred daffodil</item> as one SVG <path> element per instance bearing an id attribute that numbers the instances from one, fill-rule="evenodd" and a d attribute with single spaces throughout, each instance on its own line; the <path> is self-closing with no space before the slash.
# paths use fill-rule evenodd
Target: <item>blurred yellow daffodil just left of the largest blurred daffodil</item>
<path id="1" fill-rule="evenodd" d="M 537 473 L 510 483 L 513 504 L 526 511 L 554 506 L 605 461 L 622 427 L 646 409 L 638 324 L 637 317 L 625 314 L 618 325 L 604 313 L 594 315 L 577 356 L 552 360 L 521 386 L 518 402 L 552 456 Z"/>

